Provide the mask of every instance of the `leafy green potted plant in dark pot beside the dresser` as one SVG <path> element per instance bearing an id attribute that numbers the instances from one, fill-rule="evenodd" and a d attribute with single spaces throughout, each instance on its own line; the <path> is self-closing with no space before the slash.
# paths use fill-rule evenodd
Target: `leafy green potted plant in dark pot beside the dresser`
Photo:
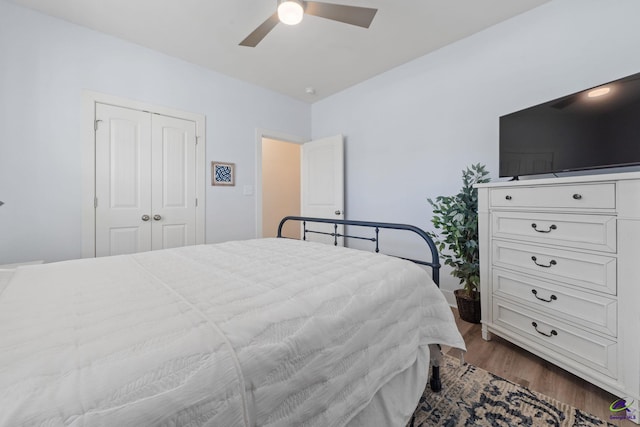
<path id="1" fill-rule="evenodd" d="M 462 189 L 454 196 L 427 199 L 433 207 L 431 222 L 436 232 L 428 233 L 436 242 L 451 274 L 460 279 L 462 289 L 454 291 L 460 318 L 480 323 L 480 262 L 478 247 L 478 190 L 473 186 L 489 182 L 489 172 L 480 163 L 462 171 Z M 439 231 L 439 232 L 438 232 Z"/>

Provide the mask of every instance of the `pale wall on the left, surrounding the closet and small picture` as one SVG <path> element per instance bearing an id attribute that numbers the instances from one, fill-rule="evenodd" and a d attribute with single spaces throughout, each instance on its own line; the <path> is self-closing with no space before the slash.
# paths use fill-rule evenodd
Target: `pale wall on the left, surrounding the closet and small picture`
<path id="1" fill-rule="evenodd" d="M 207 242 L 256 236 L 256 129 L 310 136 L 307 104 L 0 0 L 0 264 L 80 256 L 83 89 L 206 115 L 237 173 L 207 187 Z"/>

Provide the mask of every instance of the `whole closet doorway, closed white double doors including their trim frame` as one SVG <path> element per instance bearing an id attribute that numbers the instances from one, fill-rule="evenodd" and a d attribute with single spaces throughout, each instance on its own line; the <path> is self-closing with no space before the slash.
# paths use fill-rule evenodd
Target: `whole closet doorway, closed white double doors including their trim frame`
<path id="1" fill-rule="evenodd" d="M 83 98 L 82 256 L 204 243 L 205 117 Z"/>

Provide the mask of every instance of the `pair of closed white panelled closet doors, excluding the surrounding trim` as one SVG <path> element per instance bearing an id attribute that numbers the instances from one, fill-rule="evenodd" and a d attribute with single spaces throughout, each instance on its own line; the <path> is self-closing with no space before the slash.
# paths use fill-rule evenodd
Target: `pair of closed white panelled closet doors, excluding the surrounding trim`
<path id="1" fill-rule="evenodd" d="M 196 124 L 96 104 L 96 256 L 196 243 Z"/>

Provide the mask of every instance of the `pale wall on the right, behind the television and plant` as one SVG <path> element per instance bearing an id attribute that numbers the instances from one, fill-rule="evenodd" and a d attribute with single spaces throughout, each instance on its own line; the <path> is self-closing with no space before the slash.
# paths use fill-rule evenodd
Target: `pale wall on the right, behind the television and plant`
<path id="1" fill-rule="evenodd" d="M 639 16 L 637 0 L 552 1 L 314 104 L 314 138 L 346 135 L 347 218 L 431 230 L 426 199 L 466 165 L 497 177 L 499 116 L 640 71 Z"/>

